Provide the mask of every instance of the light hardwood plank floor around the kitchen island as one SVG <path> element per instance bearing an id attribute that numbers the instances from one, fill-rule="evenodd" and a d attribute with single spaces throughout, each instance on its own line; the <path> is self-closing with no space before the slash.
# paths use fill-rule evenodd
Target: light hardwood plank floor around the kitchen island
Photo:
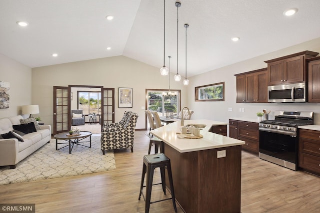
<path id="1" fill-rule="evenodd" d="M 2 185 L 0 203 L 35 204 L 39 213 L 143 213 L 144 201 L 138 201 L 138 194 L 149 140 L 144 133 L 135 132 L 133 153 L 129 149 L 114 152 L 113 171 Z M 156 170 L 154 183 L 159 176 Z M 153 186 L 151 201 L 164 197 L 160 185 Z M 319 200 L 319 177 L 242 151 L 242 213 L 315 213 L 320 212 Z M 172 202 L 151 204 L 150 213 L 174 213 Z M 179 207 L 178 213 L 182 213 Z"/>

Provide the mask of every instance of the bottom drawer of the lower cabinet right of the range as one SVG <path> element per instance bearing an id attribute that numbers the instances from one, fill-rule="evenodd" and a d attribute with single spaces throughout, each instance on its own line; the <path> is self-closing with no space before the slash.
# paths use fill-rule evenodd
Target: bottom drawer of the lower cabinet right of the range
<path id="1" fill-rule="evenodd" d="M 299 167 L 320 174 L 320 157 L 299 153 Z"/>

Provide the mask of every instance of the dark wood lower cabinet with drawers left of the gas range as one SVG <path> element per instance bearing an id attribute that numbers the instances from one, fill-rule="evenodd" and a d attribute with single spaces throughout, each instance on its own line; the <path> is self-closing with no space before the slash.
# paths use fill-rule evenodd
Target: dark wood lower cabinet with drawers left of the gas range
<path id="1" fill-rule="evenodd" d="M 242 149 L 258 154 L 259 123 L 229 119 L 229 137 L 245 141 Z"/>

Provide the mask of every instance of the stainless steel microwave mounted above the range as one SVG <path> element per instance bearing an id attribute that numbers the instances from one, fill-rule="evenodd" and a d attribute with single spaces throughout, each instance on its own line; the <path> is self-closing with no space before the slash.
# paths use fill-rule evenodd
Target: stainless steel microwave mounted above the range
<path id="1" fill-rule="evenodd" d="M 268 86 L 268 102 L 305 102 L 305 83 Z"/>

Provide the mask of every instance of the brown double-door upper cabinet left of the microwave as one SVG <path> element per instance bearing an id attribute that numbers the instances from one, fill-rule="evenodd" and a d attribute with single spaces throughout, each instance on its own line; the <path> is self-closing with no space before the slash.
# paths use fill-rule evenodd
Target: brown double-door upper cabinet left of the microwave
<path id="1" fill-rule="evenodd" d="M 236 74 L 236 103 L 267 102 L 267 69 Z"/>

